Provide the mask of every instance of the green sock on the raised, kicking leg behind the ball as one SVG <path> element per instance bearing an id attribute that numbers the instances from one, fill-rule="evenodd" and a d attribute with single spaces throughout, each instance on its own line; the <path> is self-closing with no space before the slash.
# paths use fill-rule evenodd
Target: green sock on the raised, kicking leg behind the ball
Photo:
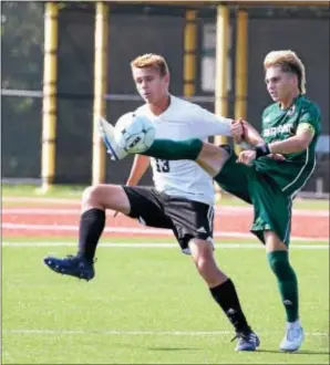
<path id="1" fill-rule="evenodd" d="M 143 155 L 161 159 L 193 159 L 195 160 L 203 147 L 200 139 L 155 139 L 152 146 Z"/>

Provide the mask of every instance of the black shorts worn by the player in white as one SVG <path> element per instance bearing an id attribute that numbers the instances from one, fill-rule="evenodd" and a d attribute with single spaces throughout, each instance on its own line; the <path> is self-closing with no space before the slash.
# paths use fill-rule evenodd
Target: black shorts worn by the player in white
<path id="1" fill-rule="evenodd" d="M 154 188 L 123 188 L 131 204 L 128 217 L 148 227 L 172 229 L 184 253 L 189 253 L 188 243 L 194 238 L 213 244 L 213 206 L 168 196 Z"/>

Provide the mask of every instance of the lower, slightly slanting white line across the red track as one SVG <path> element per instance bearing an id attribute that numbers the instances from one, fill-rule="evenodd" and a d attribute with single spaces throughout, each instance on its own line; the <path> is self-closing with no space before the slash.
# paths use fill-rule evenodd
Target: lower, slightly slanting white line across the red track
<path id="1" fill-rule="evenodd" d="M 78 232 L 79 227 L 72 225 L 24 225 L 24 223 L 2 223 L 2 230 L 35 230 L 35 231 L 70 231 Z M 143 226 L 142 226 L 143 227 Z M 158 236 L 172 236 L 173 232 L 169 229 L 161 229 L 161 228 L 136 228 L 136 227 L 105 227 L 105 233 L 123 233 L 127 234 L 158 234 Z M 252 238 L 252 233 L 239 233 L 239 232 L 223 232 L 223 231 L 214 231 L 214 238 L 220 237 L 233 237 L 233 238 Z M 328 241 L 329 237 L 324 238 L 314 238 L 314 237 L 292 237 L 291 240 L 297 241 Z"/>

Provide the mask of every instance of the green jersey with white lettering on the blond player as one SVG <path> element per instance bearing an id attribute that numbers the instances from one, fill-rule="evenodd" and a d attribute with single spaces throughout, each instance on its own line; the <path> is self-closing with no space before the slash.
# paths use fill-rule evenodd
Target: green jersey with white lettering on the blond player
<path id="1" fill-rule="evenodd" d="M 283 161 L 267 156 L 254 161 L 257 171 L 269 175 L 290 196 L 295 196 L 303 187 L 316 167 L 316 145 L 320 135 L 319 107 L 300 95 L 289 108 L 281 109 L 279 103 L 275 103 L 262 114 L 261 136 L 266 143 L 292 137 L 301 124 L 307 124 L 313 132 L 313 138 L 306 150 L 287 154 Z"/>

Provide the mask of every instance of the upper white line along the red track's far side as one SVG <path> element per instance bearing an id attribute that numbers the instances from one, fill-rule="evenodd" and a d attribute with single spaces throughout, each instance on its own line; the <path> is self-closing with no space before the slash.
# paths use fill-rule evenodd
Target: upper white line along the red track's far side
<path id="1" fill-rule="evenodd" d="M 3 208 L 3 215 L 80 215 L 81 210 L 78 208 Z M 252 208 L 249 207 L 217 207 L 215 213 L 217 216 L 251 216 Z M 107 215 L 113 215 L 113 210 L 107 210 Z M 327 210 L 301 210 L 293 209 L 295 217 L 329 217 L 329 211 Z"/>

